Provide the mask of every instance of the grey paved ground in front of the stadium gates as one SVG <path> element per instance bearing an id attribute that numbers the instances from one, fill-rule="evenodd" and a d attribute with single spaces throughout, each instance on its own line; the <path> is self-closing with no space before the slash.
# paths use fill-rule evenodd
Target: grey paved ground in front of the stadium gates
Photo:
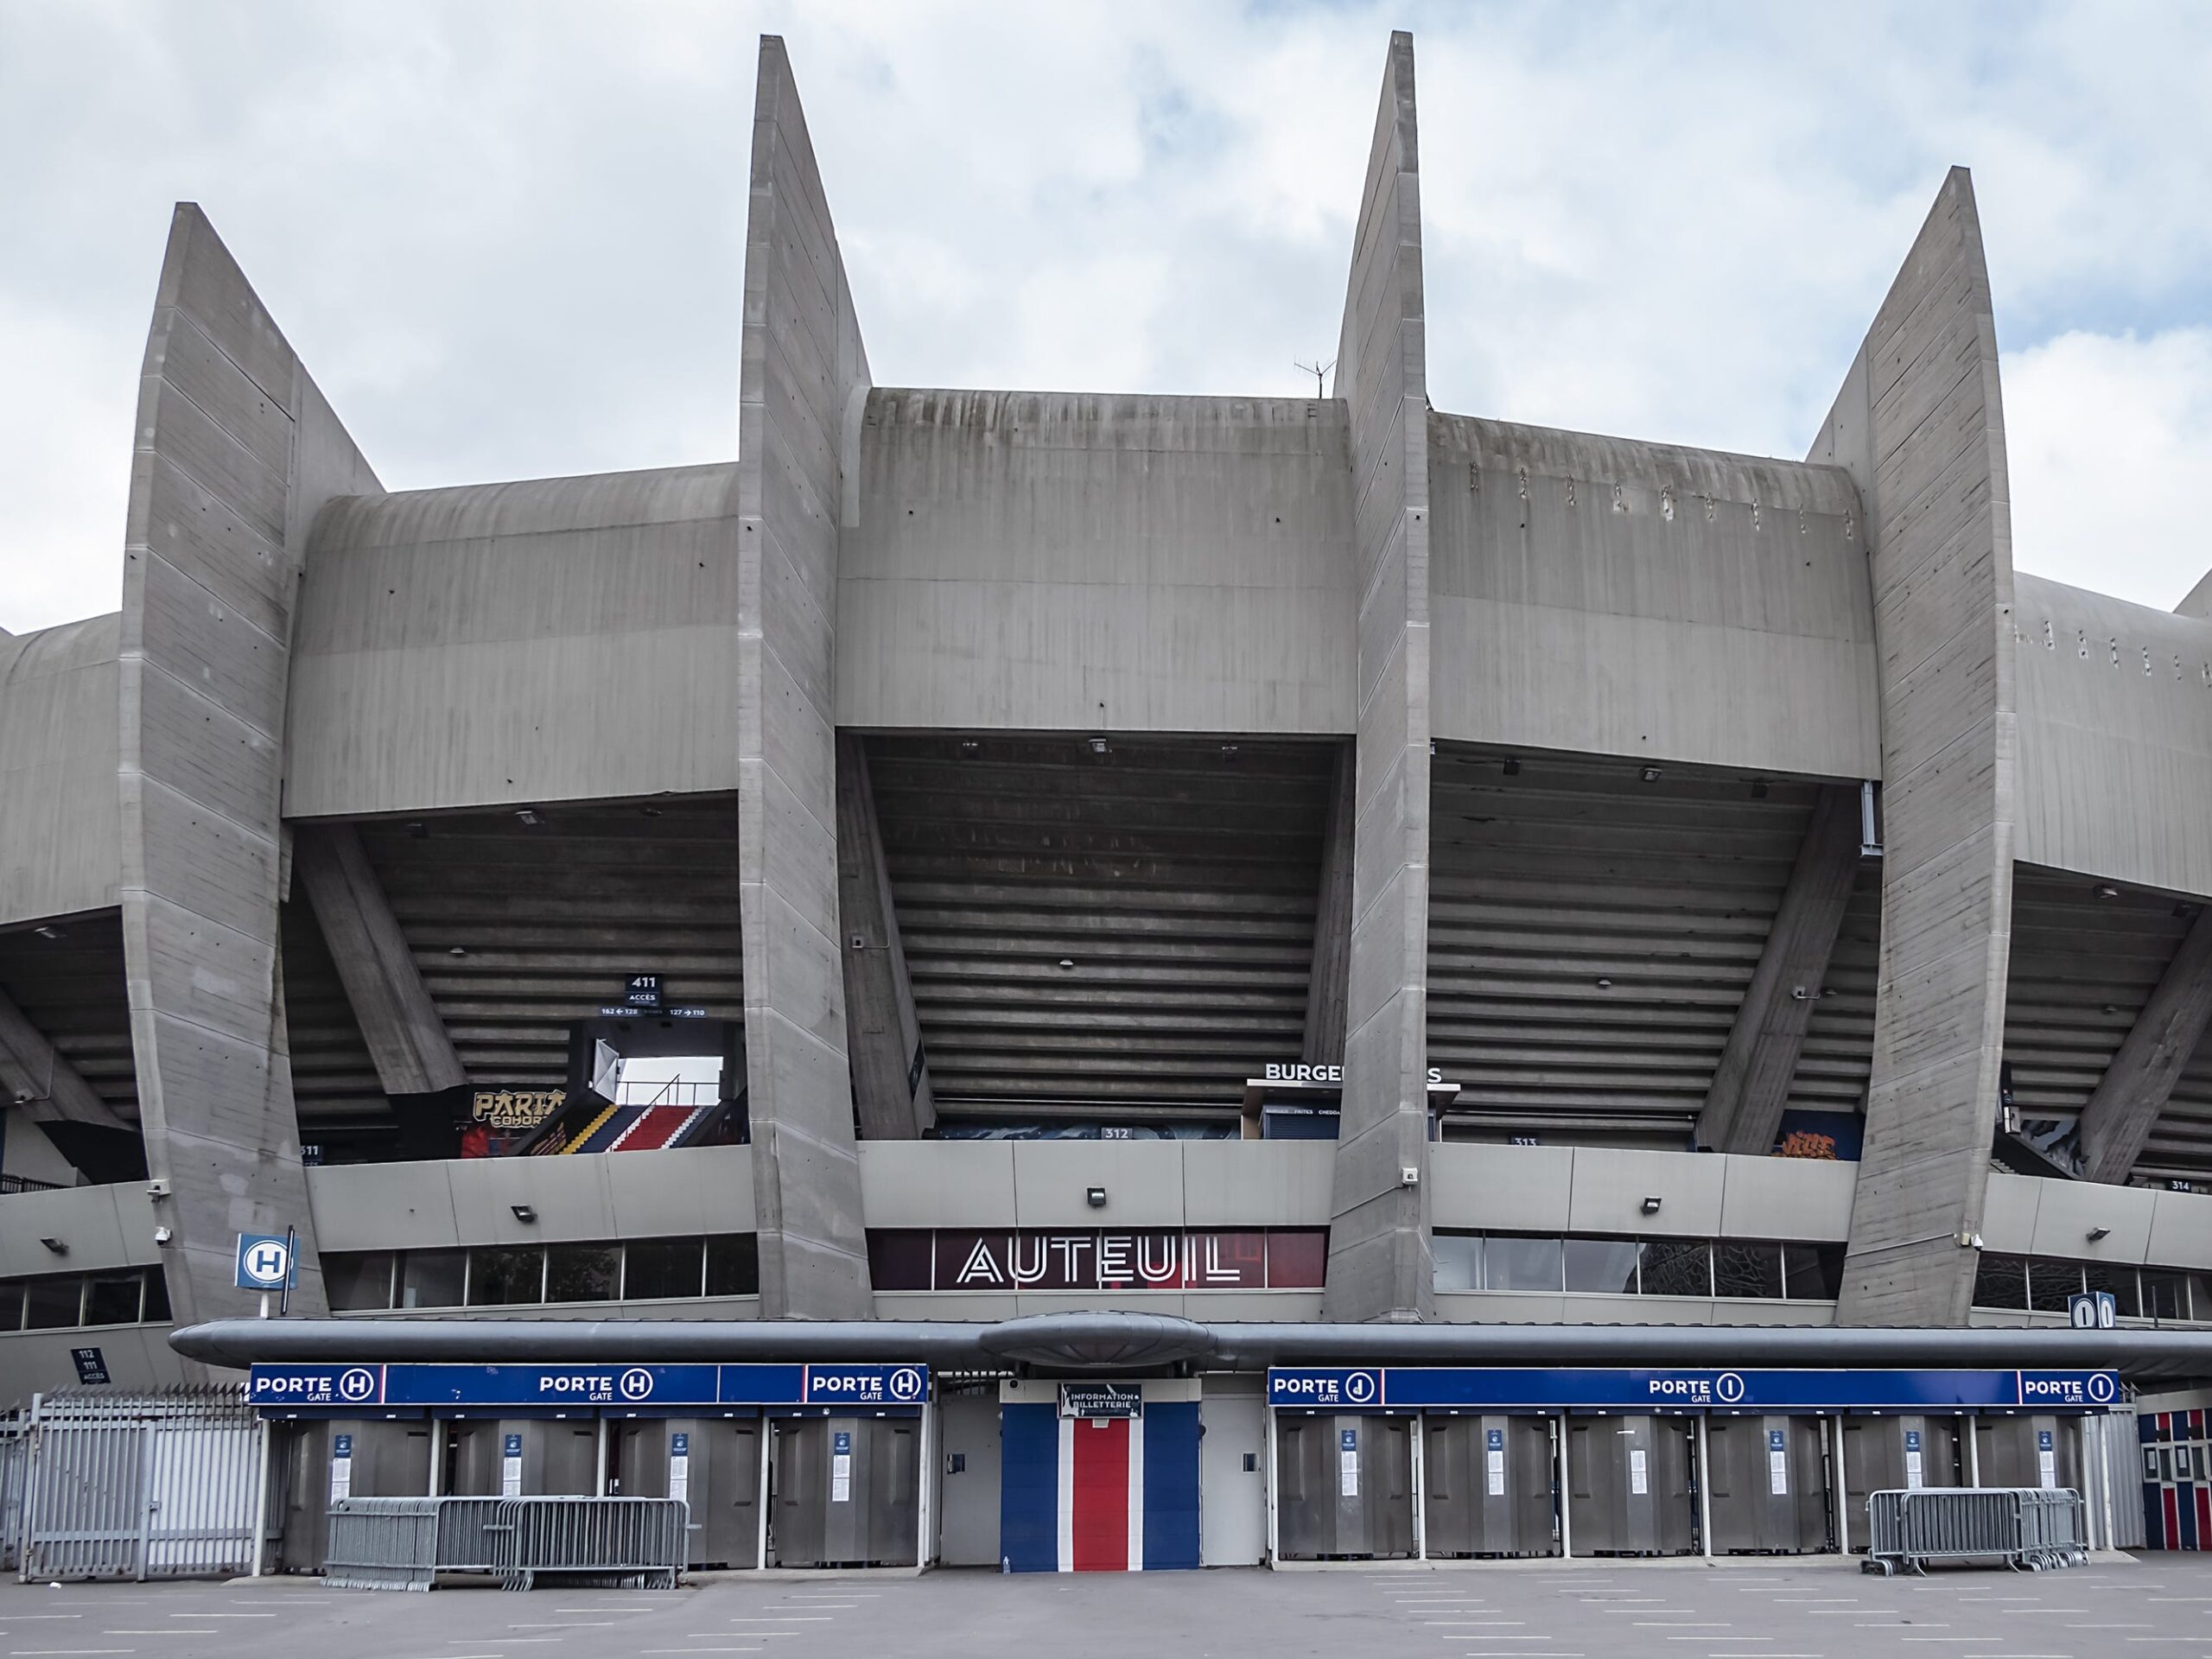
<path id="1" fill-rule="evenodd" d="M 1305 1573 L 719 1577 L 675 1593 L 0 1584 L 0 1659 L 599 1655 L 1422 1655 L 1436 1659 L 2106 1659 L 2212 1652 L 2212 1559 L 1880 1579 L 1836 1559 Z"/>

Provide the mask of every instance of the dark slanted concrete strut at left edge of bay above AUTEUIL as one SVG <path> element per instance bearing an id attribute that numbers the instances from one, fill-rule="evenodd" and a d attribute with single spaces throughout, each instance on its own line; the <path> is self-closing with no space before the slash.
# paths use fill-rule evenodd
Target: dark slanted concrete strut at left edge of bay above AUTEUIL
<path id="1" fill-rule="evenodd" d="M 938 1102 L 858 732 L 841 732 L 836 741 L 836 896 L 845 945 L 845 1040 L 860 1137 L 911 1141 L 938 1121 Z"/>

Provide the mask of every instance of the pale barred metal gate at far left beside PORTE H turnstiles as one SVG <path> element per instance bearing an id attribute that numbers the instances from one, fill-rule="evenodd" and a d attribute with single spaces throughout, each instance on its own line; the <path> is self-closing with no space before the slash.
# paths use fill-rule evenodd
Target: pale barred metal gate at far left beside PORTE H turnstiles
<path id="1" fill-rule="evenodd" d="M 24 1579 L 250 1573 L 263 1427 L 239 1387 L 31 1400 Z"/>

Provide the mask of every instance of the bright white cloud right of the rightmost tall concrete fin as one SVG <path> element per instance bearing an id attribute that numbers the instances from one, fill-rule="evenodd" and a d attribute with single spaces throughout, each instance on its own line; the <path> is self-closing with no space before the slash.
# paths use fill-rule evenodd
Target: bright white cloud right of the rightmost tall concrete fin
<path id="1" fill-rule="evenodd" d="M 2022 571 L 2170 611 L 2212 568 L 2212 327 L 2020 352 L 2004 438 Z"/>

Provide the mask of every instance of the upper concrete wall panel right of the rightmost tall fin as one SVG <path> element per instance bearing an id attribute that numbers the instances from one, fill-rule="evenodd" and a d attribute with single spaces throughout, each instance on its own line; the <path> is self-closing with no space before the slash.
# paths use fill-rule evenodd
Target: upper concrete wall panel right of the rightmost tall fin
<path id="1" fill-rule="evenodd" d="M 2015 582 L 2015 856 L 2212 894 L 2212 622 Z"/>

